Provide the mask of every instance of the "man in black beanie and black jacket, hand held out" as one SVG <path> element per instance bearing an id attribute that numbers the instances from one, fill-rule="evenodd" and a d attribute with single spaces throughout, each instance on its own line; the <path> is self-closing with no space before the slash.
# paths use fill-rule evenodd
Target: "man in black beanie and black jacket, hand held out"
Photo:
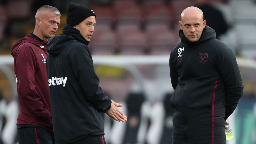
<path id="1" fill-rule="evenodd" d="M 70 4 L 67 26 L 47 44 L 47 75 L 56 144 L 105 144 L 103 115 L 127 121 L 99 86 L 88 44 L 96 14 L 86 6 Z"/>

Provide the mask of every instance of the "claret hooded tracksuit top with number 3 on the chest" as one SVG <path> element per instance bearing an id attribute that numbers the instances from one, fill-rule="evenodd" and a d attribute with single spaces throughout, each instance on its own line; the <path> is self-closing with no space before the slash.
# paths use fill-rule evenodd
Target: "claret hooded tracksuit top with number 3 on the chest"
<path id="1" fill-rule="evenodd" d="M 47 41 L 31 33 L 13 44 L 11 54 L 17 78 L 20 110 L 18 127 L 33 125 L 53 132 L 46 73 L 46 44 Z"/>

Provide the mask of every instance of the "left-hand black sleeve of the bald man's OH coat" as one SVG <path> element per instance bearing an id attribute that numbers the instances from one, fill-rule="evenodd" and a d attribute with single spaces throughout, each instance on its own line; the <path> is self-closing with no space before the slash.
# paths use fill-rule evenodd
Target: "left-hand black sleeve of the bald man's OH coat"
<path id="1" fill-rule="evenodd" d="M 176 60 L 174 56 L 174 51 L 172 51 L 170 54 L 169 66 L 170 66 L 171 83 L 174 90 L 178 85 L 178 77 L 179 77 L 175 65 L 176 65 Z"/>

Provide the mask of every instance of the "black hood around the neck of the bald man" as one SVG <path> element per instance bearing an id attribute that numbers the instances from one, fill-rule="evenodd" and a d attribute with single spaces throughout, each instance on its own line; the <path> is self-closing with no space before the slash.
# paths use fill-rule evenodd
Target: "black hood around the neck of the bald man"
<path id="1" fill-rule="evenodd" d="M 189 41 L 185 37 L 185 35 L 184 35 L 182 30 L 179 31 L 179 36 L 181 38 L 181 42 L 183 42 L 185 44 L 197 44 L 197 43 L 201 43 L 203 41 L 209 40 L 209 39 L 216 38 L 216 33 L 215 33 L 215 31 L 211 27 L 206 25 L 205 28 L 203 29 L 201 37 L 196 42 Z"/>

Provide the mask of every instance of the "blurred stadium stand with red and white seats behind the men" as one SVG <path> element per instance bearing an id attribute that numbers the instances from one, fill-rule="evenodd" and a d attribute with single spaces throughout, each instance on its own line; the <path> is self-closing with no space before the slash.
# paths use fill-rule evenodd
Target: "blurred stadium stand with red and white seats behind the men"
<path id="1" fill-rule="evenodd" d="M 61 11 L 56 35 L 61 34 L 70 3 L 95 11 L 97 24 L 89 44 L 95 71 L 100 86 L 124 105 L 129 118 L 127 123 L 117 123 L 105 117 L 107 143 L 170 144 L 169 54 L 180 41 L 180 13 L 200 5 L 199 1 L 205 0 L 0 0 L 0 144 L 17 143 L 17 90 L 10 47 L 34 30 L 36 10 L 44 4 Z M 227 144 L 256 144 L 256 1 L 208 0 L 207 4 L 223 14 L 227 29 L 218 38 L 236 54 L 245 86 L 229 118 L 235 137 Z M 224 27 L 223 21 L 217 24 Z"/>

